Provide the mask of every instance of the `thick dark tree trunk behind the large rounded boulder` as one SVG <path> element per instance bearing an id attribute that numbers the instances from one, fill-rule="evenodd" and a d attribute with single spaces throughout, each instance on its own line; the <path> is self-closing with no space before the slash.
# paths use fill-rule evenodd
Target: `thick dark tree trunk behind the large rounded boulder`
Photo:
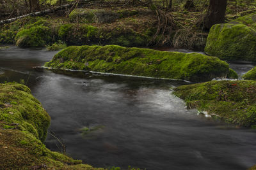
<path id="1" fill-rule="evenodd" d="M 221 24 L 225 21 L 227 0 L 210 0 L 207 15 L 204 19 L 205 29 L 210 29 L 214 24 Z"/>

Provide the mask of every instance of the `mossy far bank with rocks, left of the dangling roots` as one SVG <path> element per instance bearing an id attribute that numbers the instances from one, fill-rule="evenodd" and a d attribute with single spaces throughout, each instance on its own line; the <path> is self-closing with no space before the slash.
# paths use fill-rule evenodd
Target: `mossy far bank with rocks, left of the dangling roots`
<path id="1" fill-rule="evenodd" d="M 67 45 L 147 46 L 154 35 L 154 13 L 134 10 L 76 9 L 65 17 L 25 17 L 0 25 L 0 43 L 20 47 Z M 102 23 L 103 22 L 103 23 Z"/>

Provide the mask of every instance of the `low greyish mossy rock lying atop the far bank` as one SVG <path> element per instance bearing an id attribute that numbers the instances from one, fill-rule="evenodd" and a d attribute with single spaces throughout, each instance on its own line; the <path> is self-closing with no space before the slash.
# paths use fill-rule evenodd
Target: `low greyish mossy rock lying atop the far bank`
<path id="1" fill-rule="evenodd" d="M 104 10 L 77 8 L 70 15 L 70 22 L 73 23 L 109 23 L 132 15 L 137 15 L 138 10 Z"/>

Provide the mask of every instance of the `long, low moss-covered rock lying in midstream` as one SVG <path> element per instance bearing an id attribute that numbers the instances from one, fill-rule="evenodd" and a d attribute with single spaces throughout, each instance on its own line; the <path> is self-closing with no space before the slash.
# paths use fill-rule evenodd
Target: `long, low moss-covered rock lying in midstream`
<path id="1" fill-rule="evenodd" d="M 69 46 L 45 66 L 189 81 L 226 77 L 229 72 L 228 64 L 217 57 L 117 45 Z"/>

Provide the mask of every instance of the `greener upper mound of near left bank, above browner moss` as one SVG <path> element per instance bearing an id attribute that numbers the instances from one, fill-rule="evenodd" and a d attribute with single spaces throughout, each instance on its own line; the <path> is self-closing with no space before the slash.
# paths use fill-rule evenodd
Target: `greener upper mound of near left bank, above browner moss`
<path id="1" fill-rule="evenodd" d="M 44 141 L 50 117 L 41 104 L 30 94 L 28 87 L 18 84 L 0 85 L 0 122 L 5 127 L 19 124 L 19 129 L 29 131 Z"/>

